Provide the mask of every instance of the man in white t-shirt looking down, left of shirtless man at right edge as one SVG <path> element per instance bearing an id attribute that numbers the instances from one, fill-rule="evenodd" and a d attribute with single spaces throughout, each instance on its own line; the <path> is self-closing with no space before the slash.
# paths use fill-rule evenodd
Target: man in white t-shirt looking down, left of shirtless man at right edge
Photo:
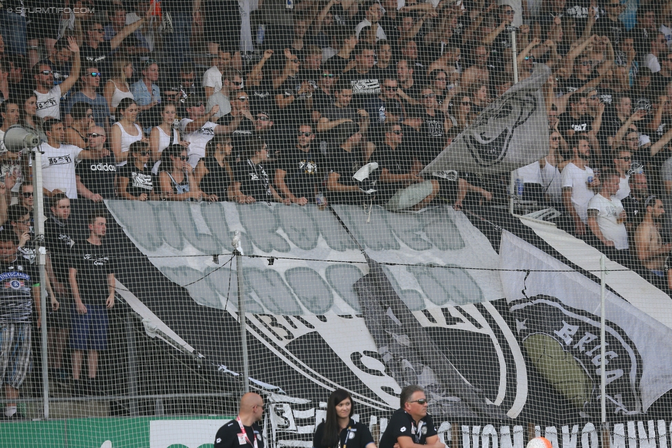
<path id="1" fill-rule="evenodd" d="M 627 262 L 627 215 L 623 204 L 614 196 L 620 178 L 616 171 L 602 173 L 602 189 L 588 202 L 588 227 L 598 239 L 596 246 L 616 262 Z"/>

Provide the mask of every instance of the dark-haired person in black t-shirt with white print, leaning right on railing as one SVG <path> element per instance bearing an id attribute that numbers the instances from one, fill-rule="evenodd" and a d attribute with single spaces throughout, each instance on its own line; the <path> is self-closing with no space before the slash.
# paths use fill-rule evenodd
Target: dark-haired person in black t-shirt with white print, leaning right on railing
<path id="1" fill-rule="evenodd" d="M 252 204 L 257 201 L 283 202 L 291 204 L 290 200 L 284 200 L 277 194 L 271 184 L 269 174 L 262 165 L 269 158 L 266 143 L 263 140 L 248 140 L 244 148 L 243 157 L 235 164 L 235 180 L 231 195 L 233 200 L 241 204 Z"/>

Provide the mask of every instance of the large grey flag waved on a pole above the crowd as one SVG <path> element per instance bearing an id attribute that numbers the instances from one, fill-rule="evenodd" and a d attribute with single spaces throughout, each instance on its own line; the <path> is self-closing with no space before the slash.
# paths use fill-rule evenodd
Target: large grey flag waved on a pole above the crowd
<path id="1" fill-rule="evenodd" d="M 501 173 L 548 154 L 548 120 L 541 87 L 551 70 L 536 64 L 529 78 L 494 100 L 422 174 L 459 170 Z"/>

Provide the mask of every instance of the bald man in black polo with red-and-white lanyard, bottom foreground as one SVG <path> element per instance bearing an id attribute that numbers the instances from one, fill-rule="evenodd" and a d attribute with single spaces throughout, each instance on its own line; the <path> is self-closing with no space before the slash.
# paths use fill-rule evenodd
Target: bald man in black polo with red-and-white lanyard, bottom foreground
<path id="1" fill-rule="evenodd" d="M 238 417 L 222 426 L 215 436 L 214 448 L 264 448 L 262 429 L 257 423 L 264 415 L 264 400 L 247 392 L 240 398 Z"/>

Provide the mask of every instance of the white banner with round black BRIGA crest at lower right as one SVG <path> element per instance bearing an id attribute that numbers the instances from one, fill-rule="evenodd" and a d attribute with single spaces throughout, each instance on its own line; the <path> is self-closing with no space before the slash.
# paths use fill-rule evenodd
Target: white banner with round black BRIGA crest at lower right
<path id="1" fill-rule="evenodd" d="M 516 337 L 543 378 L 595 414 L 600 285 L 506 231 L 500 254 Z M 609 290 L 605 301 L 608 414 L 646 412 L 672 387 L 672 330 Z"/>

